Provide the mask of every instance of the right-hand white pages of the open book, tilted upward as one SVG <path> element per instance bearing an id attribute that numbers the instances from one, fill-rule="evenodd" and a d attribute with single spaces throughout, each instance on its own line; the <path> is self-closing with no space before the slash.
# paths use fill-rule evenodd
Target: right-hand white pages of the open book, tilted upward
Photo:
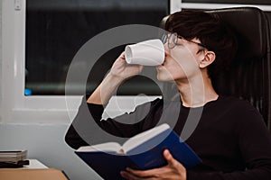
<path id="1" fill-rule="evenodd" d="M 141 133 L 135 135 L 134 137 L 128 139 L 124 143 L 123 149 L 125 152 L 127 152 L 128 150 L 137 147 L 138 145 L 144 143 L 148 139 L 152 139 L 155 136 L 157 136 L 158 134 L 160 134 L 161 132 L 163 132 L 164 130 L 168 130 L 168 129 L 170 129 L 170 126 L 168 124 L 164 123 L 162 125 L 154 127 L 151 130 L 146 130 L 144 132 L 141 132 Z"/>

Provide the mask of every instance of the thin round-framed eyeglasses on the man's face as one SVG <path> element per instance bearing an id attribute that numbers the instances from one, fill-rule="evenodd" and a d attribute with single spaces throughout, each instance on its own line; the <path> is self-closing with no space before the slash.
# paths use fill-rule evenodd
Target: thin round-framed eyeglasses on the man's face
<path id="1" fill-rule="evenodd" d="M 178 43 L 178 38 L 179 39 L 182 39 L 182 40 L 187 40 L 185 38 L 183 38 L 182 36 L 178 35 L 176 32 L 174 33 L 164 33 L 163 36 L 162 36 L 162 42 L 165 44 L 167 42 L 167 46 L 169 49 L 173 49 L 175 46 L 178 46 L 178 45 L 182 45 L 180 43 Z M 197 44 L 199 46 L 201 46 L 202 48 L 205 48 L 205 49 L 208 49 L 204 44 L 201 44 L 200 42 L 195 42 L 193 40 L 187 40 L 187 41 L 190 41 L 194 44 Z"/>

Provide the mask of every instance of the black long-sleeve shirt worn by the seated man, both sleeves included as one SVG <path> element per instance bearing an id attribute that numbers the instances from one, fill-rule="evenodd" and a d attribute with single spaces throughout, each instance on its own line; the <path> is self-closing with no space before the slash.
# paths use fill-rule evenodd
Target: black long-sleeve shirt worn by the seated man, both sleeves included
<path id="1" fill-rule="evenodd" d="M 187 108 L 178 101 L 156 99 L 107 121 L 101 121 L 103 112 L 102 105 L 87 104 L 83 98 L 66 134 L 70 147 L 112 139 L 122 142 L 125 137 L 168 122 L 181 137 L 184 131 L 192 130 L 185 141 L 202 164 L 187 170 L 188 180 L 271 179 L 271 135 L 259 112 L 245 101 L 220 96 L 202 107 Z M 194 122 L 195 129 L 186 124 L 188 117 L 190 121 L 200 117 Z"/>

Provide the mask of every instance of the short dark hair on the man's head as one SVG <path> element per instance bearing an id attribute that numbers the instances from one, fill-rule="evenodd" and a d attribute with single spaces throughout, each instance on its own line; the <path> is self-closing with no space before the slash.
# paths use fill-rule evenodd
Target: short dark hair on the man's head
<path id="1" fill-rule="evenodd" d="M 198 38 L 209 50 L 215 52 L 216 59 L 207 67 L 211 79 L 221 69 L 229 66 L 238 48 L 233 31 L 220 20 L 217 14 L 184 10 L 171 14 L 164 29 L 177 32 L 187 40 Z"/>

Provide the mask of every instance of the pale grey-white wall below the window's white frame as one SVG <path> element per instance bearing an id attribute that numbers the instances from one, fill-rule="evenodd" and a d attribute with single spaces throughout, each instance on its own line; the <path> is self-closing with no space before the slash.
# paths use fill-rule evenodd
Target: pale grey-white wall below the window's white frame
<path id="1" fill-rule="evenodd" d="M 1 68 L 3 61 L 1 13 L 2 0 L 0 0 L 0 79 L 5 76 Z M 0 94 L 2 94 L 3 85 L 8 85 L 8 83 L 0 83 Z M 2 99 L 0 95 L 0 103 Z M 0 114 L 0 150 L 27 149 L 29 158 L 39 159 L 46 166 L 63 170 L 71 180 L 101 179 L 64 142 L 69 124 L 11 124 L 1 123 L 2 118 L 3 114 Z"/>

